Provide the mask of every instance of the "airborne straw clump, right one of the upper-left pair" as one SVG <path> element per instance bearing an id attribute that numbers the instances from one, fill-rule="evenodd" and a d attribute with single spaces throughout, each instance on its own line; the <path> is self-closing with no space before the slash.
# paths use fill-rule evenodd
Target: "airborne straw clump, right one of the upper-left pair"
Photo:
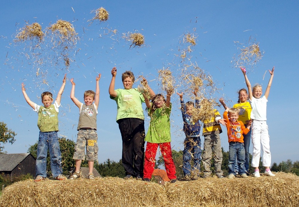
<path id="1" fill-rule="evenodd" d="M 61 39 L 71 39 L 77 35 L 73 25 L 70 22 L 61 19 L 58 20 L 55 24 L 52 24 L 48 29 L 53 33 L 58 31 L 61 34 Z"/>

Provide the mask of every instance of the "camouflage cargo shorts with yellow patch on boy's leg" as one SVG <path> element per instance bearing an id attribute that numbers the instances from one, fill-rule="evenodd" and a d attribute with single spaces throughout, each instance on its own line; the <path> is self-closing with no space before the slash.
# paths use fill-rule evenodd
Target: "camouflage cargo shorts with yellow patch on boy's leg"
<path id="1" fill-rule="evenodd" d="M 75 143 L 74 160 L 96 161 L 99 147 L 97 145 L 97 131 L 94 129 L 79 129 Z"/>

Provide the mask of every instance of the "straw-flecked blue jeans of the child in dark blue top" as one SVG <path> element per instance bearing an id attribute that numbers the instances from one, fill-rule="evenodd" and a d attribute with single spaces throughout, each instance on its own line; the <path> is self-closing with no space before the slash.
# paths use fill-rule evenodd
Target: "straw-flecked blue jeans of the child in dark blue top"
<path id="1" fill-rule="evenodd" d="M 184 176 L 190 176 L 191 171 L 194 175 L 200 172 L 200 161 L 202 157 L 202 149 L 200 147 L 200 137 L 188 137 L 184 140 L 184 151 L 183 151 L 183 172 Z M 193 158 L 193 169 L 191 170 L 191 159 Z"/>

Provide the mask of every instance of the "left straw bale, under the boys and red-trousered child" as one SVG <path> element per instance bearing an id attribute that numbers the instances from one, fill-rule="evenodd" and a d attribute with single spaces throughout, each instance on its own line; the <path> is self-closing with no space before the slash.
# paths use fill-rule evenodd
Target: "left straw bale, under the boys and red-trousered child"
<path id="1" fill-rule="evenodd" d="M 2 206 L 165 206 L 167 198 L 157 183 L 114 177 L 26 180 L 6 187 Z"/>

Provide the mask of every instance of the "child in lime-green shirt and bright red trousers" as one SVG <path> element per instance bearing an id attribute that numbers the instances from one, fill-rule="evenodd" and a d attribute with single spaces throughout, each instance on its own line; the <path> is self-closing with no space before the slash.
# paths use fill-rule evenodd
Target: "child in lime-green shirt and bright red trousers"
<path id="1" fill-rule="evenodd" d="M 152 98 L 152 102 L 144 96 L 147 105 L 148 114 L 150 116 L 149 130 L 145 136 L 147 147 L 145 151 L 144 177 L 143 180 L 150 182 L 152 173 L 155 168 L 155 157 L 158 146 L 160 146 L 163 155 L 165 170 L 170 183 L 176 182 L 176 166 L 174 165 L 171 146 L 170 146 L 170 112 L 171 103 L 170 96 L 172 92 L 167 91 L 167 98 L 164 99 L 162 94 L 156 94 Z"/>

